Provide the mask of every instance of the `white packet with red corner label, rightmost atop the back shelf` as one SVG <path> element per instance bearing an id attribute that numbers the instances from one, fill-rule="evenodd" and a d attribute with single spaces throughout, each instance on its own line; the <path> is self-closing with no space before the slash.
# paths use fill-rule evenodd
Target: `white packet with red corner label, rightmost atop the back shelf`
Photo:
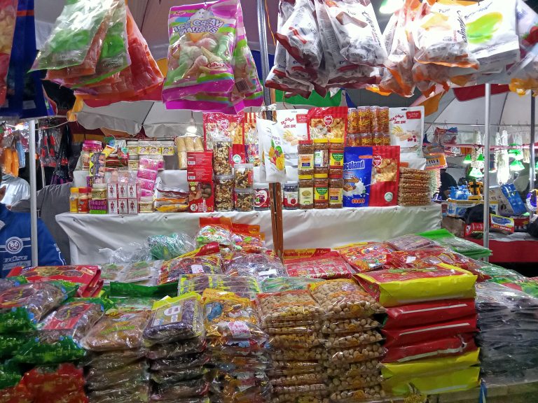
<path id="1" fill-rule="evenodd" d="M 401 153 L 422 157 L 424 106 L 389 109 L 390 144 L 400 146 Z"/>

